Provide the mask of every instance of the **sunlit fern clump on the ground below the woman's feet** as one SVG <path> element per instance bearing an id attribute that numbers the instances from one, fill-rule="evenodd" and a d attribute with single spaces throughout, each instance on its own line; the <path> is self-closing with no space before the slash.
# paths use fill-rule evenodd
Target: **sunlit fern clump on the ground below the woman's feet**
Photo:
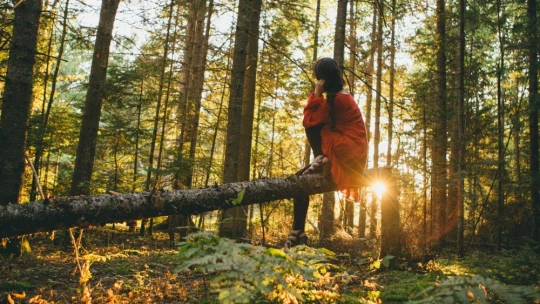
<path id="1" fill-rule="evenodd" d="M 212 290 L 223 303 L 253 300 L 282 302 L 334 302 L 339 295 L 331 288 L 333 253 L 306 246 L 288 252 L 280 249 L 235 243 L 210 233 L 195 233 L 181 243 L 186 260 L 178 267 L 215 275 Z M 293 300 L 294 301 L 294 300 Z"/>

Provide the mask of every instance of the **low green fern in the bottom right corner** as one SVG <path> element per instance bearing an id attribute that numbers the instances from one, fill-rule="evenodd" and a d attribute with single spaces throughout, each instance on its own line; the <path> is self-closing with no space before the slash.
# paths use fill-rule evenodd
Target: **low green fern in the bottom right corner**
<path id="1" fill-rule="evenodd" d="M 411 303 L 530 303 L 540 297 L 531 286 L 505 285 L 481 276 L 453 276 L 425 289 Z"/>

